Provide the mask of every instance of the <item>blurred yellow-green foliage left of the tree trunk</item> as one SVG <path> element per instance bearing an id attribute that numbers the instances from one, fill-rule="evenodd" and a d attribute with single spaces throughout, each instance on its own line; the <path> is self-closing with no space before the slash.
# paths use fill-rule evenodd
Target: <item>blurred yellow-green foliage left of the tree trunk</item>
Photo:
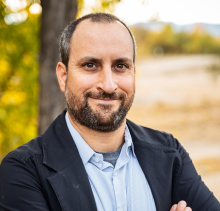
<path id="1" fill-rule="evenodd" d="M 39 17 L 6 25 L 5 15 L 0 1 L 1 157 L 37 135 Z"/>

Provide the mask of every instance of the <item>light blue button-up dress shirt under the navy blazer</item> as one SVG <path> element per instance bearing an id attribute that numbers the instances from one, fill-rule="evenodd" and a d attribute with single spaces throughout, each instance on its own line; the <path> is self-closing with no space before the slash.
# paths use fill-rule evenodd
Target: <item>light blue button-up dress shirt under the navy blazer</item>
<path id="1" fill-rule="evenodd" d="M 129 129 L 116 162 L 103 161 L 72 126 L 66 113 L 67 127 L 76 143 L 92 187 L 98 211 L 156 211 L 149 184 L 134 153 Z"/>

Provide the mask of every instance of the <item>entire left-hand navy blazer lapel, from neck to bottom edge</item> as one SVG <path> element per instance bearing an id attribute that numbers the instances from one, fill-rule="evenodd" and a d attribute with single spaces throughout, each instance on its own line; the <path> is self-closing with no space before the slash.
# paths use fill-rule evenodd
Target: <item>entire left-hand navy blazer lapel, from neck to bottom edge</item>
<path id="1" fill-rule="evenodd" d="M 56 171 L 47 180 L 63 211 L 96 211 L 96 203 L 81 157 L 67 128 L 64 111 L 43 140 L 43 163 Z"/>

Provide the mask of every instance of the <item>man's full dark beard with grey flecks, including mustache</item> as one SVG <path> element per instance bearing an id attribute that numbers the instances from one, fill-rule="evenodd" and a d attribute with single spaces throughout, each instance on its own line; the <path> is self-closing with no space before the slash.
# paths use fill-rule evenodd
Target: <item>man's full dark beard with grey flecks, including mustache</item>
<path id="1" fill-rule="evenodd" d="M 87 92 L 82 97 L 78 97 L 68 88 L 66 83 L 65 102 L 67 111 L 72 120 L 99 132 L 112 132 L 117 130 L 123 123 L 133 100 L 135 91 L 126 99 L 124 93 L 113 92 L 108 94 L 101 92 Z M 98 104 L 98 109 L 93 110 L 88 103 L 88 98 L 120 100 L 120 106 L 116 111 L 112 111 L 112 105 Z"/>

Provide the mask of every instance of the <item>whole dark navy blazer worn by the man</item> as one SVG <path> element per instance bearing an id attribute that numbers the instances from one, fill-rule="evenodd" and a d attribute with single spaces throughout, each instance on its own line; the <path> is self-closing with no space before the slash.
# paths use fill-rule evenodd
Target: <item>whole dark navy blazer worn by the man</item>
<path id="1" fill-rule="evenodd" d="M 41 136 L 0 166 L 0 211 L 95 211 L 96 203 L 64 111 Z M 185 200 L 193 211 L 220 210 L 188 153 L 172 135 L 127 120 L 157 211 Z M 146 196 L 147 197 L 147 196 Z"/>

